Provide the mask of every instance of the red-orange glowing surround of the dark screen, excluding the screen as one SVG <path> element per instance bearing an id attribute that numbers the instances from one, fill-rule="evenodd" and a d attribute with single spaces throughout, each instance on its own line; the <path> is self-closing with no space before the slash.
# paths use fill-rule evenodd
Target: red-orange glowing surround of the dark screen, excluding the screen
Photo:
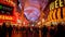
<path id="1" fill-rule="evenodd" d="M 13 15 L 0 15 L 0 23 L 3 23 L 3 22 L 11 22 L 12 24 L 16 24 L 17 23 L 17 20 L 18 20 L 18 13 L 16 12 L 16 5 L 13 1 L 0 1 L 0 3 L 2 4 L 6 4 L 6 5 L 10 5 L 10 7 L 13 7 Z M 17 13 L 17 14 L 15 14 Z"/>

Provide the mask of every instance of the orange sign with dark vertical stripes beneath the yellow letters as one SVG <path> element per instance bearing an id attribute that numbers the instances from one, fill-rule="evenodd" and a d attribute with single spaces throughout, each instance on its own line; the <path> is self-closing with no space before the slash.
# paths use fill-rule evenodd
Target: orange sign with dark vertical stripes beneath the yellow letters
<path id="1" fill-rule="evenodd" d="M 65 7 L 51 10 L 50 14 L 48 15 L 49 21 L 61 18 L 65 18 Z"/>

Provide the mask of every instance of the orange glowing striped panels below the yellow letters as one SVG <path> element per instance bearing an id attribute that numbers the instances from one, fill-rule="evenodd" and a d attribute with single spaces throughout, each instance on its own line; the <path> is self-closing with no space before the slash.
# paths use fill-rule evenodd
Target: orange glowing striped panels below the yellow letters
<path id="1" fill-rule="evenodd" d="M 61 12 L 63 13 L 63 18 L 62 18 Z M 56 18 L 55 14 L 57 15 L 57 18 Z M 65 7 L 64 8 L 57 8 L 57 9 L 51 10 L 50 14 L 48 15 L 48 21 L 52 21 L 52 22 L 62 22 L 62 21 L 65 21 Z"/>

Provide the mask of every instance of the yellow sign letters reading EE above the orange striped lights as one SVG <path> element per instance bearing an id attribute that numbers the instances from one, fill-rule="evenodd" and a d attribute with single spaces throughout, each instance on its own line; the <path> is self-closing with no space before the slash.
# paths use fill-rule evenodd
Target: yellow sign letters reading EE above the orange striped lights
<path id="1" fill-rule="evenodd" d="M 50 10 L 53 10 L 55 8 L 64 7 L 65 0 L 55 0 L 50 4 Z"/>

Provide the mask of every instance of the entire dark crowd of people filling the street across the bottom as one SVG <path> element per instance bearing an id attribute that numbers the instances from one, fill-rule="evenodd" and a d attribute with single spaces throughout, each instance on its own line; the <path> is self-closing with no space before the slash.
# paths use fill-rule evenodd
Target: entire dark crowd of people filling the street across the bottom
<path id="1" fill-rule="evenodd" d="M 41 37 L 65 37 L 65 24 L 58 23 L 57 25 L 39 27 L 20 27 L 18 25 L 6 25 L 3 23 L 0 25 L 0 37 L 12 37 L 13 33 L 20 34 L 21 37 L 39 37 L 39 30 L 41 30 Z"/>

